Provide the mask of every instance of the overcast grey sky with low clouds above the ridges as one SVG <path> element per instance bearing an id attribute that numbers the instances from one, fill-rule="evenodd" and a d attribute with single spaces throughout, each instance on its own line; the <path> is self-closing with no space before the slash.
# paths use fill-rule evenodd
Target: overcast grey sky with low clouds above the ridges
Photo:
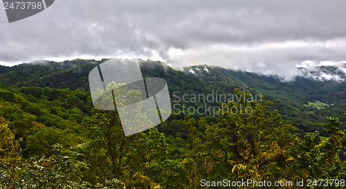
<path id="1" fill-rule="evenodd" d="M 0 64 L 134 51 L 174 68 L 209 64 L 291 78 L 297 66 L 346 62 L 345 7 L 343 0 L 56 0 L 10 24 L 0 8 Z"/>

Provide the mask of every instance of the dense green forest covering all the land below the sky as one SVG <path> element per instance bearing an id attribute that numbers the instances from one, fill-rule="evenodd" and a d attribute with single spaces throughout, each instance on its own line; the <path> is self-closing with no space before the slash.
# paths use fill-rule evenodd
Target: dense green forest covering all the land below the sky
<path id="1" fill-rule="evenodd" d="M 281 82 L 205 65 L 176 71 L 142 60 L 143 76 L 164 78 L 172 101 L 174 91 L 218 91 L 246 98 L 208 106 L 253 111 L 173 112 L 125 137 L 116 111 L 93 108 L 88 74 L 103 61 L 0 66 L 0 188 L 201 188 L 224 179 L 345 186 L 345 82 Z M 253 93 L 264 98 L 248 101 Z"/>

